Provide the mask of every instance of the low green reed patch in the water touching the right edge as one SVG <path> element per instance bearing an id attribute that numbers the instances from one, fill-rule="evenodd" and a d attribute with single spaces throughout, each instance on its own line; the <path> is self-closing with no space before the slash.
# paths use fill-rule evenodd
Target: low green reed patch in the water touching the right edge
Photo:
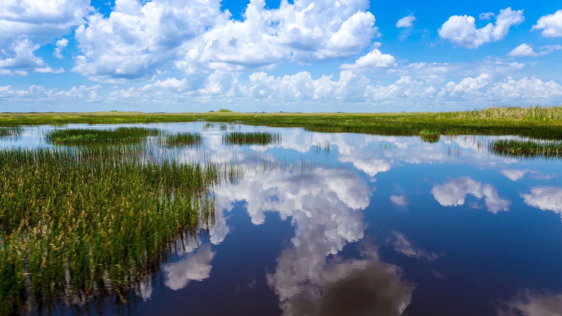
<path id="1" fill-rule="evenodd" d="M 488 143 L 491 152 L 507 157 L 562 157 L 562 142 L 520 139 L 495 139 Z"/>

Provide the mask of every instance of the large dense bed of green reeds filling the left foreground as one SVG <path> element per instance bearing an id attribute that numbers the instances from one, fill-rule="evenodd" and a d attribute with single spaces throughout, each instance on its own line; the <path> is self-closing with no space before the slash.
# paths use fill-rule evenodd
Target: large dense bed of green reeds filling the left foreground
<path id="1" fill-rule="evenodd" d="M 209 189 L 239 170 L 145 154 L 142 146 L 0 150 L 0 314 L 94 295 L 123 300 L 180 236 L 212 224 Z"/>

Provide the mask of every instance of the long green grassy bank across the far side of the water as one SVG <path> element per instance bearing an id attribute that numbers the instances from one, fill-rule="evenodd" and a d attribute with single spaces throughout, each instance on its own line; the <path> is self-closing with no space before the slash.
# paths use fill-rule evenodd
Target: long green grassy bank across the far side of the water
<path id="1" fill-rule="evenodd" d="M 562 106 L 490 107 L 459 112 L 414 113 L 20 113 L 0 114 L 0 126 L 65 123 L 162 123 L 196 120 L 271 127 L 303 127 L 316 132 L 418 135 L 520 135 L 562 139 Z"/>

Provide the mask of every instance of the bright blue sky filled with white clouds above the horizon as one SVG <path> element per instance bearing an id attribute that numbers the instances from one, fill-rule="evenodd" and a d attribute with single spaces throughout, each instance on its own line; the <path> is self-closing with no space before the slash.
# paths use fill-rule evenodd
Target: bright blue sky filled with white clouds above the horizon
<path id="1" fill-rule="evenodd" d="M 6 0 L 0 111 L 562 102 L 562 3 Z"/>

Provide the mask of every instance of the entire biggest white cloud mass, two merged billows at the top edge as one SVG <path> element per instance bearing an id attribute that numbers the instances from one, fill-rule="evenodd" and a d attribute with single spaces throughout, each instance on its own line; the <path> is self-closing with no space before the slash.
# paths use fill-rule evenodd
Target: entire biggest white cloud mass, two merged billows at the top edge
<path id="1" fill-rule="evenodd" d="M 74 71 L 105 82 L 149 78 L 167 61 L 184 74 L 269 70 L 283 61 L 347 57 L 378 34 L 369 1 L 248 3 L 242 21 L 217 0 L 117 0 L 76 30 Z M 209 87 L 212 88 L 212 87 Z"/>

